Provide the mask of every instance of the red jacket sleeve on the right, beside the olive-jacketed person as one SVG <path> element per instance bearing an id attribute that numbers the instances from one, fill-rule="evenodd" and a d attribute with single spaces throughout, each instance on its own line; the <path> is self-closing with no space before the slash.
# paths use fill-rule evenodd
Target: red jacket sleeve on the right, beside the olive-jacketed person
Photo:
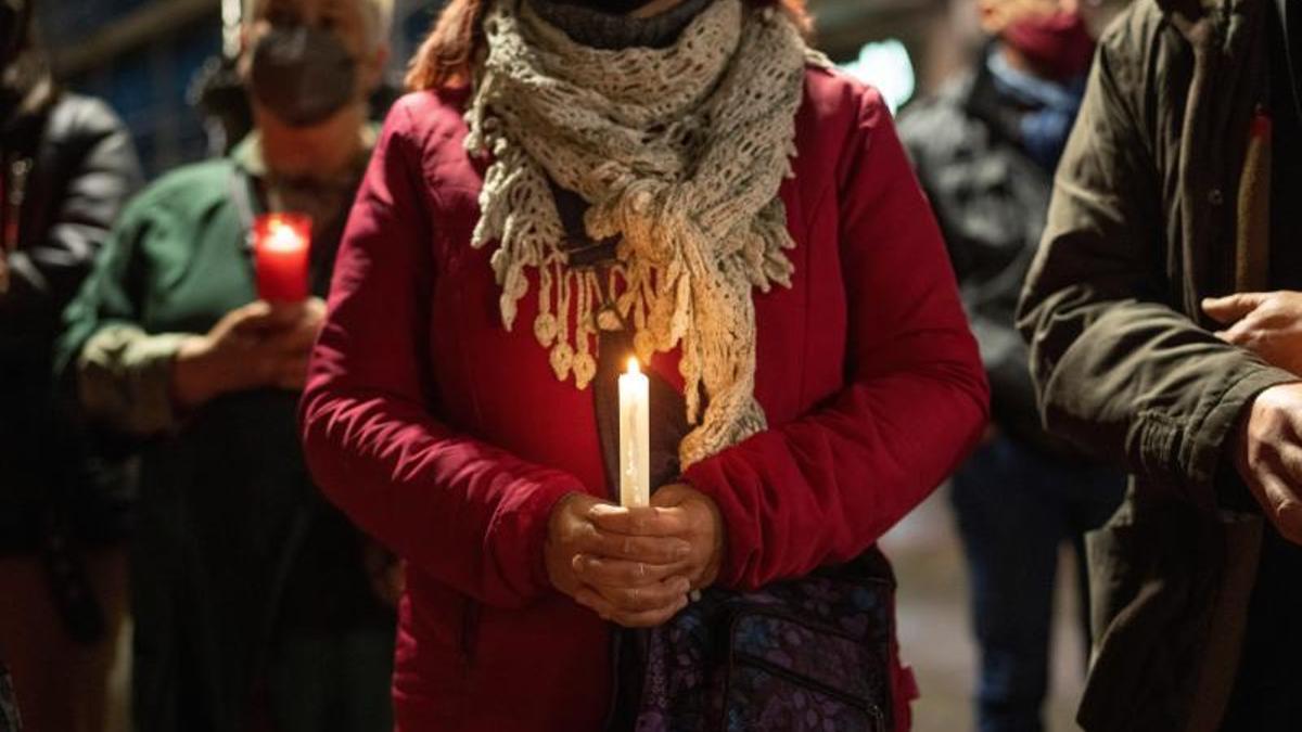
<path id="1" fill-rule="evenodd" d="M 935 490 L 986 423 L 986 376 L 944 244 L 876 92 L 865 95 L 840 173 L 845 387 L 685 474 L 724 516 L 727 586 L 863 552 Z"/>

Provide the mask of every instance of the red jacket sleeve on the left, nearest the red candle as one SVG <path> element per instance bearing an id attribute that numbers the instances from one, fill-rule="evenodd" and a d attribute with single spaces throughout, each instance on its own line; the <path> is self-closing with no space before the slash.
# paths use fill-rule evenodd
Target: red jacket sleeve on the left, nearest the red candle
<path id="1" fill-rule="evenodd" d="M 458 434 L 427 383 L 435 276 L 421 150 L 398 103 L 358 193 L 335 266 L 301 408 L 318 485 L 422 572 L 488 604 L 549 591 L 552 507 L 578 478 Z"/>

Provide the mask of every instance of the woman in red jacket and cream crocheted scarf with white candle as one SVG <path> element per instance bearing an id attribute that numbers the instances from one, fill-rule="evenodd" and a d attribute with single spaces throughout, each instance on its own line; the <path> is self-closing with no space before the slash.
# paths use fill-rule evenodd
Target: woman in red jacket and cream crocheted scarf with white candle
<path id="1" fill-rule="evenodd" d="M 855 557 L 980 434 L 887 107 L 806 23 L 797 0 L 453 0 L 421 49 L 302 405 L 319 485 L 406 560 L 400 729 L 600 729 L 612 623 Z M 628 353 L 654 382 L 644 511 L 611 505 L 603 460 Z"/>

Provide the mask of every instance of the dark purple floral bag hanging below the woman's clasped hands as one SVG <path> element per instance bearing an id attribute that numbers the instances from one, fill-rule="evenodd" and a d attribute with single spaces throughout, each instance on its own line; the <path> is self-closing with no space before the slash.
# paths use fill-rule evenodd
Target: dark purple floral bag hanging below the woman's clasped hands
<path id="1" fill-rule="evenodd" d="M 621 716 L 637 732 L 885 732 L 893 603 L 876 550 L 754 593 L 706 590 L 665 625 L 624 636 L 641 663 L 620 673 L 622 698 L 637 699 Z"/>

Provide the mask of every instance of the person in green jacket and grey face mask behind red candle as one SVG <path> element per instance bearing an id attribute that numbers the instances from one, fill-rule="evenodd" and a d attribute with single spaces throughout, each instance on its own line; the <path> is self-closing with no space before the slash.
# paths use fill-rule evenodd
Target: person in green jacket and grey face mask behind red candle
<path id="1" fill-rule="evenodd" d="M 59 365 L 141 455 L 134 714 L 141 732 L 380 731 L 398 576 L 314 487 L 294 402 L 374 142 L 387 0 L 256 0 L 241 73 L 254 132 L 124 212 L 65 313 Z M 310 216 L 311 297 L 258 298 L 263 212 Z"/>

